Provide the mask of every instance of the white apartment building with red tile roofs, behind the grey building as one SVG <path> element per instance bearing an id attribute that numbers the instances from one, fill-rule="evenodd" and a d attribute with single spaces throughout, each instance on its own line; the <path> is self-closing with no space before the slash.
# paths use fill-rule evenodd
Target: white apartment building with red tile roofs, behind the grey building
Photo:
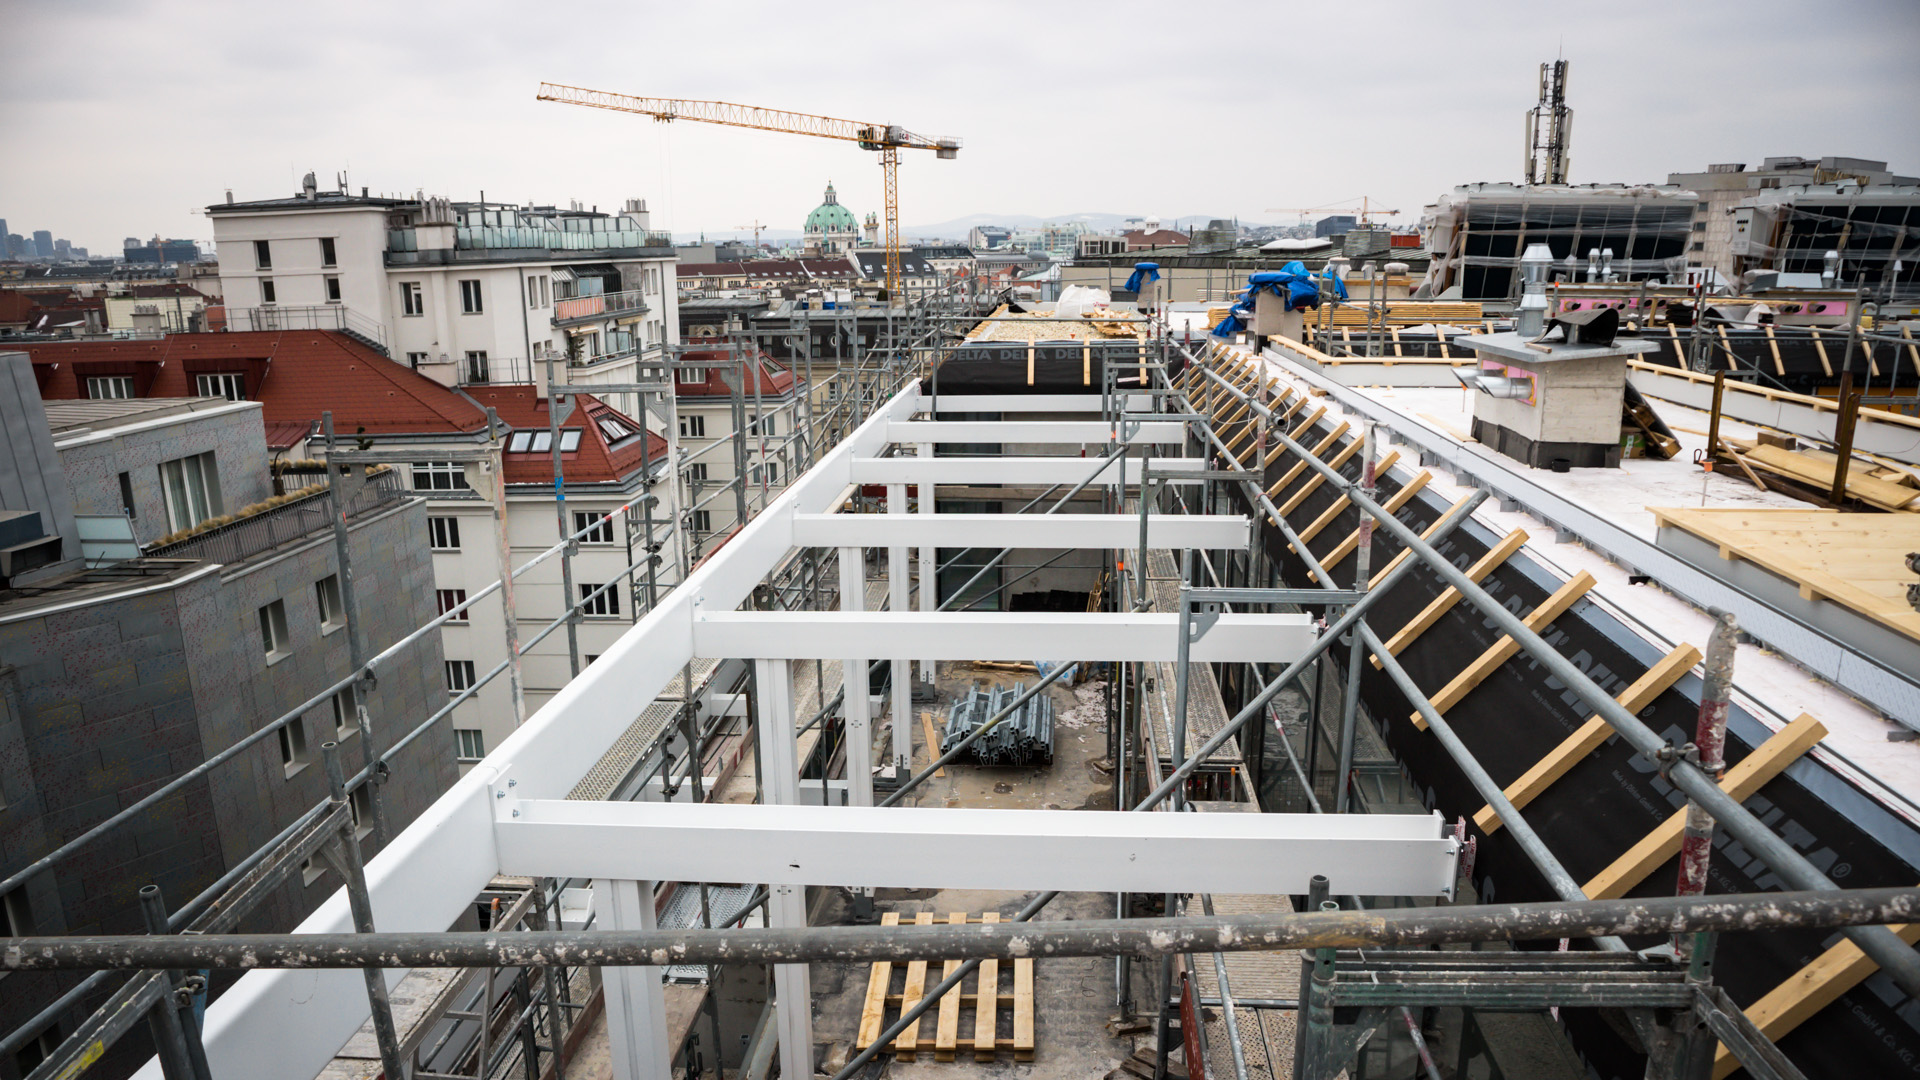
<path id="1" fill-rule="evenodd" d="M 321 434 L 324 411 L 332 411 L 342 450 L 365 446 L 405 454 L 407 461 L 384 482 L 424 500 L 417 538 L 424 544 L 430 580 L 419 584 L 417 592 L 426 607 L 415 625 L 476 598 L 499 580 L 503 565 L 526 563 L 561 538 L 549 404 L 534 384 L 444 386 L 338 331 L 173 334 L 157 342 L 46 342 L 31 346 L 31 354 L 48 398 L 92 402 L 92 394 L 104 390 L 92 380 L 111 377 L 127 379 L 125 390 L 136 400 L 217 386 L 236 400 L 259 402 L 257 423 L 267 432 L 261 457 L 271 454 L 280 461 L 282 488 L 301 486 L 300 473 L 324 477 L 324 467 L 315 461 L 326 455 Z M 488 409 L 497 419 L 493 432 Z M 637 419 L 589 394 L 572 396 L 572 409 L 563 411 L 559 427 L 566 496 L 559 505 L 566 513 L 566 532 L 653 494 L 659 550 L 651 555 L 659 557 L 659 565 L 651 580 L 678 580 L 682 555 L 670 528 L 676 500 L 674 484 L 666 482 L 672 438 L 657 432 L 641 436 Z M 505 477 L 503 507 L 497 505 L 493 465 L 480 461 L 495 446 L 495 434 Z M 209 498 L 207 507 L 213 505 Z M 217 505 L 238 503 L 223 490 Z M 223 509 L 207 517 L 217 513 Z M 632 515 L 597 528 L 582 538 L 572 555 L 576 598 L 580 584 L 597 588 L 622 582 L 597 596 L 576 626 L 582 663 L 605 651 L 641 611 L 636 601 L 647 596 L 645 567 L 632 575 L 620 571 L 649 555 L 647 542 L 634 536 L 641 530 L 645 513 L 645 507 L 636 507 Z M 142 511 L 142 521 L 148 517 L 152 511 Z M 150 542 L 144 532 L 140 540 Z M 559 559 L 547 559 L 515 580 L 515 630 L 524 648 L 524 694 L 518 705 L 505 676 L 480 684 L 509 661 L 503 598 L 480 598 L 465 611 L 465 619 L 442 626 L 440 701 L 465 694 L 453 713 L 455 746 L 449 751 L 463 767 L 499 746 L 526 713 L 572 676 L 564 632 L 528 644 L 566 607 L 563 586 Z M 474 692 L 467 694 L 468 690 Z"/>

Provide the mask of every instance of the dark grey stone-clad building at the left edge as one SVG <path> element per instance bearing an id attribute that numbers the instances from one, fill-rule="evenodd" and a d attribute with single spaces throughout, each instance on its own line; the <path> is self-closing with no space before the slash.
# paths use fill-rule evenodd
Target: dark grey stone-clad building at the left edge
<path id="1" fill-rule="evenodd" d="M 261 405 L 227 400 L 67 400 L 42 405 L 42 365 L 0 356 L 4 469 L 0 509 L 38 515 L 61 536 L 61 561 L 31 584 L 0 582 L 0 878 L 84 834 L 115 811 L 353 673 L 340 605 L 340 563 L 326 496 L 265 503 Z M 69 373 L 71 377 L 71 373 Z M 190 477 L 190 480 L 188 480 Z M 261 496 L 261 498 L 255 498 Z M 179 517 L 186 515 L 186 517 Z M 140 534 L 194 521 L 227 525 L 165 544 L 102 546 L 86 523 L 127 519 Z M 432 611 L 426 507 L 386 479 L 348 505 L 353 580 L 380 603 L 359 607 L 359 632 L 399 640 Z M 79 544 L 67 544 L 79 538 Z M 163 536 L 165 538 L 165 536 Z M 131 555 L 131 557 L 129 557 Z M 349 769 L 384 755 L 424 721 L 440 692 L 440 640 L 426 636 L 380 669 L 365 696 L 349 686 L 240 757 L 73 857 L 0 896 L 10 934 L 131 934 L 136 894 L 157 884 L 171 911 L 267 844 L 328 794 L 321 746 Z M 361 707 L 376 719 L 361 723 Z M 369 742 L 371 740 L 371 742 Z M 388 761 L 355 813 L 369 855 L 455 776 L 442 719 Z M 244 913 L 244 932 L 284 932 L 338 878 L 309 861 Z M 79 982 L 12 974 L 0 1024 L 25 1024 Z M 25 1074 L 98 999 L 36 1032 L 0 1076 Z M 144 1038 L 123 1040 L 94 1068 L 129 1074 Z"/>

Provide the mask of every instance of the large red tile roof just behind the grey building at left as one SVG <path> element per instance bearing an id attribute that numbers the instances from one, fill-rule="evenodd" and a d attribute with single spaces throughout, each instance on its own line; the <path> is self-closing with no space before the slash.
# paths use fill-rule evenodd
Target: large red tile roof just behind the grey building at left
<path id="1" fill-rule="evenodd" d="M 134 375 L 142 398 L 190 398 L 192 375 L 248 377 L 248 398 L 263 421 L 311 423 L 334 411 L 334 430 L 351 434 L 474 432 L 486 413 L 403 363 L 332 331 L 248 331 L 169 334 L 159 340 L 21 342 L 33 356 L 46 400 L 84 398 L 83 371 Z M 142 384 L 144 382 L 144 384 Z"/>

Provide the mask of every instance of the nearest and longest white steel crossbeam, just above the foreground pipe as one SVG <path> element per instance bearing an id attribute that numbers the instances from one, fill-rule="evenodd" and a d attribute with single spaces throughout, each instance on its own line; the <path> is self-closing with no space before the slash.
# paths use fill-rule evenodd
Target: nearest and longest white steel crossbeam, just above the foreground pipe
<path id="1" fill-rule="evenodd" d="M 518 811 L 518 817 L 513 817 Z M 1432 815 L 768 807 L 505 799 L 501 872 L 847 888 L 1448 896 Z"/>

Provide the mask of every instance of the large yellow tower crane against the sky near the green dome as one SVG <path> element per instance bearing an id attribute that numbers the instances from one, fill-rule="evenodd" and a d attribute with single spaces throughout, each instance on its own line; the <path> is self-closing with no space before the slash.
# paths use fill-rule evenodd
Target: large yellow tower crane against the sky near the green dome
<path id="1" fill-rule="evenodd" d="M 762 110 L 756 106 L 735 106 L 730 102 L 695 102 L 684 98 L 636 98 L 609 90 L 588 90 L 582 86 L 563 86 L 541 83 L 538 100 L 563 102 L 568 106 L 588 106 L 593 110 L 612 110 L 622 113 L 651 115 L 657 121 L 693 119 L 726 127 L 751 127 L 755 131 L 783 131 L 787 135 L 812 135 L 816 138 L 839 138 L 856 144 L 860 150 L 879 154 L 879 167 L 885 173 L 887 188 L 887 302 L 900 294 L 900 200 L 899 169 L 900 150 L 933 150 L 935 158 L 956 158 L 960 140 L 950 136 L 914 135 L 897 123 L 866 123 L 856 119 L 835 119 L 812 113 L 793 113 L 785 110 Z"/>

